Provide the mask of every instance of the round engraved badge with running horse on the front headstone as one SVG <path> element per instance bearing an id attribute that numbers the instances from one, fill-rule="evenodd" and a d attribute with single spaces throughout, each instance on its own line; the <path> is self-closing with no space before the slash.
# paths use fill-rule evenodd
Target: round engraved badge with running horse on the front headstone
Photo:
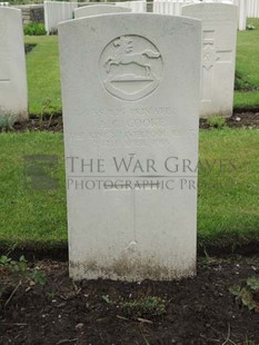
<path id="1" fill-rule="evenodd" d="M 103 49 L 100 79 L 108 92 L 123 100 L 138 100 L 157 89 L 162 73 L 157 47 L 141 36 L 121 36 Z"/>

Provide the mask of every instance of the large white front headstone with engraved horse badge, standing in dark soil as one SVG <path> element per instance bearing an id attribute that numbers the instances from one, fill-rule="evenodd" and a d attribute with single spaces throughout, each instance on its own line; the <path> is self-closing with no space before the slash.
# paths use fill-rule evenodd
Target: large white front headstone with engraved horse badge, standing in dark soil
<path id="1" fill-rule="evenodd" d="M 200 21 L 59 26 L 73 279 L 196 274 Z"/>

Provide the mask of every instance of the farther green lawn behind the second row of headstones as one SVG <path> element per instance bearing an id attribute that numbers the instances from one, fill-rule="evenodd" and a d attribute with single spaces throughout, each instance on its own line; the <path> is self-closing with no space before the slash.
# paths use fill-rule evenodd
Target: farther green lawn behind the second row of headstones
<path id="1" fill-rule="evenodd" d="M 259 19 L 249 19 L 256 30 L 239 31 L 237 43 L 237 72 L 245 82 L 259 88 Z M 59 52 L 57 36 L 26 37 L 27 43 L 37 43 L 37 47 L 27 55 L 27 71 L 29 85 L 29 111 L 31 115 L 41 114 L 44 105 L 56 111 L 61 111 Z M 259 106 L 259 90 L 236 91 L 235 108 Z M 46 114 L 53 110 L 43 109 Z"/>

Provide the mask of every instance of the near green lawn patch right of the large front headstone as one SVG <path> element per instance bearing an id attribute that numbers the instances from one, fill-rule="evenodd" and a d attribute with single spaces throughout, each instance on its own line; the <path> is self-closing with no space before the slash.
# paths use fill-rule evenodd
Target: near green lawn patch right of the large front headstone
<path id="1" fill-rule="evenodd" d="M 258 149 L 259 130 L 200 131 L 200 246 L 258 243 Z"/>

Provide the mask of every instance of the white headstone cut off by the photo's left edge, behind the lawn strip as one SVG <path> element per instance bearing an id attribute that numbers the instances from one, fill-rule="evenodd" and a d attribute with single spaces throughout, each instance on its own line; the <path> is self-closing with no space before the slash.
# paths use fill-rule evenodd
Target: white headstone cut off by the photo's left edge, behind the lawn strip
<path id="1" fill-rule="evenodd" d="M 28 118 L 21 10 L 0 7 L 0 126 Z M 6 124 L 7 125 L 7 124 Z"/>

